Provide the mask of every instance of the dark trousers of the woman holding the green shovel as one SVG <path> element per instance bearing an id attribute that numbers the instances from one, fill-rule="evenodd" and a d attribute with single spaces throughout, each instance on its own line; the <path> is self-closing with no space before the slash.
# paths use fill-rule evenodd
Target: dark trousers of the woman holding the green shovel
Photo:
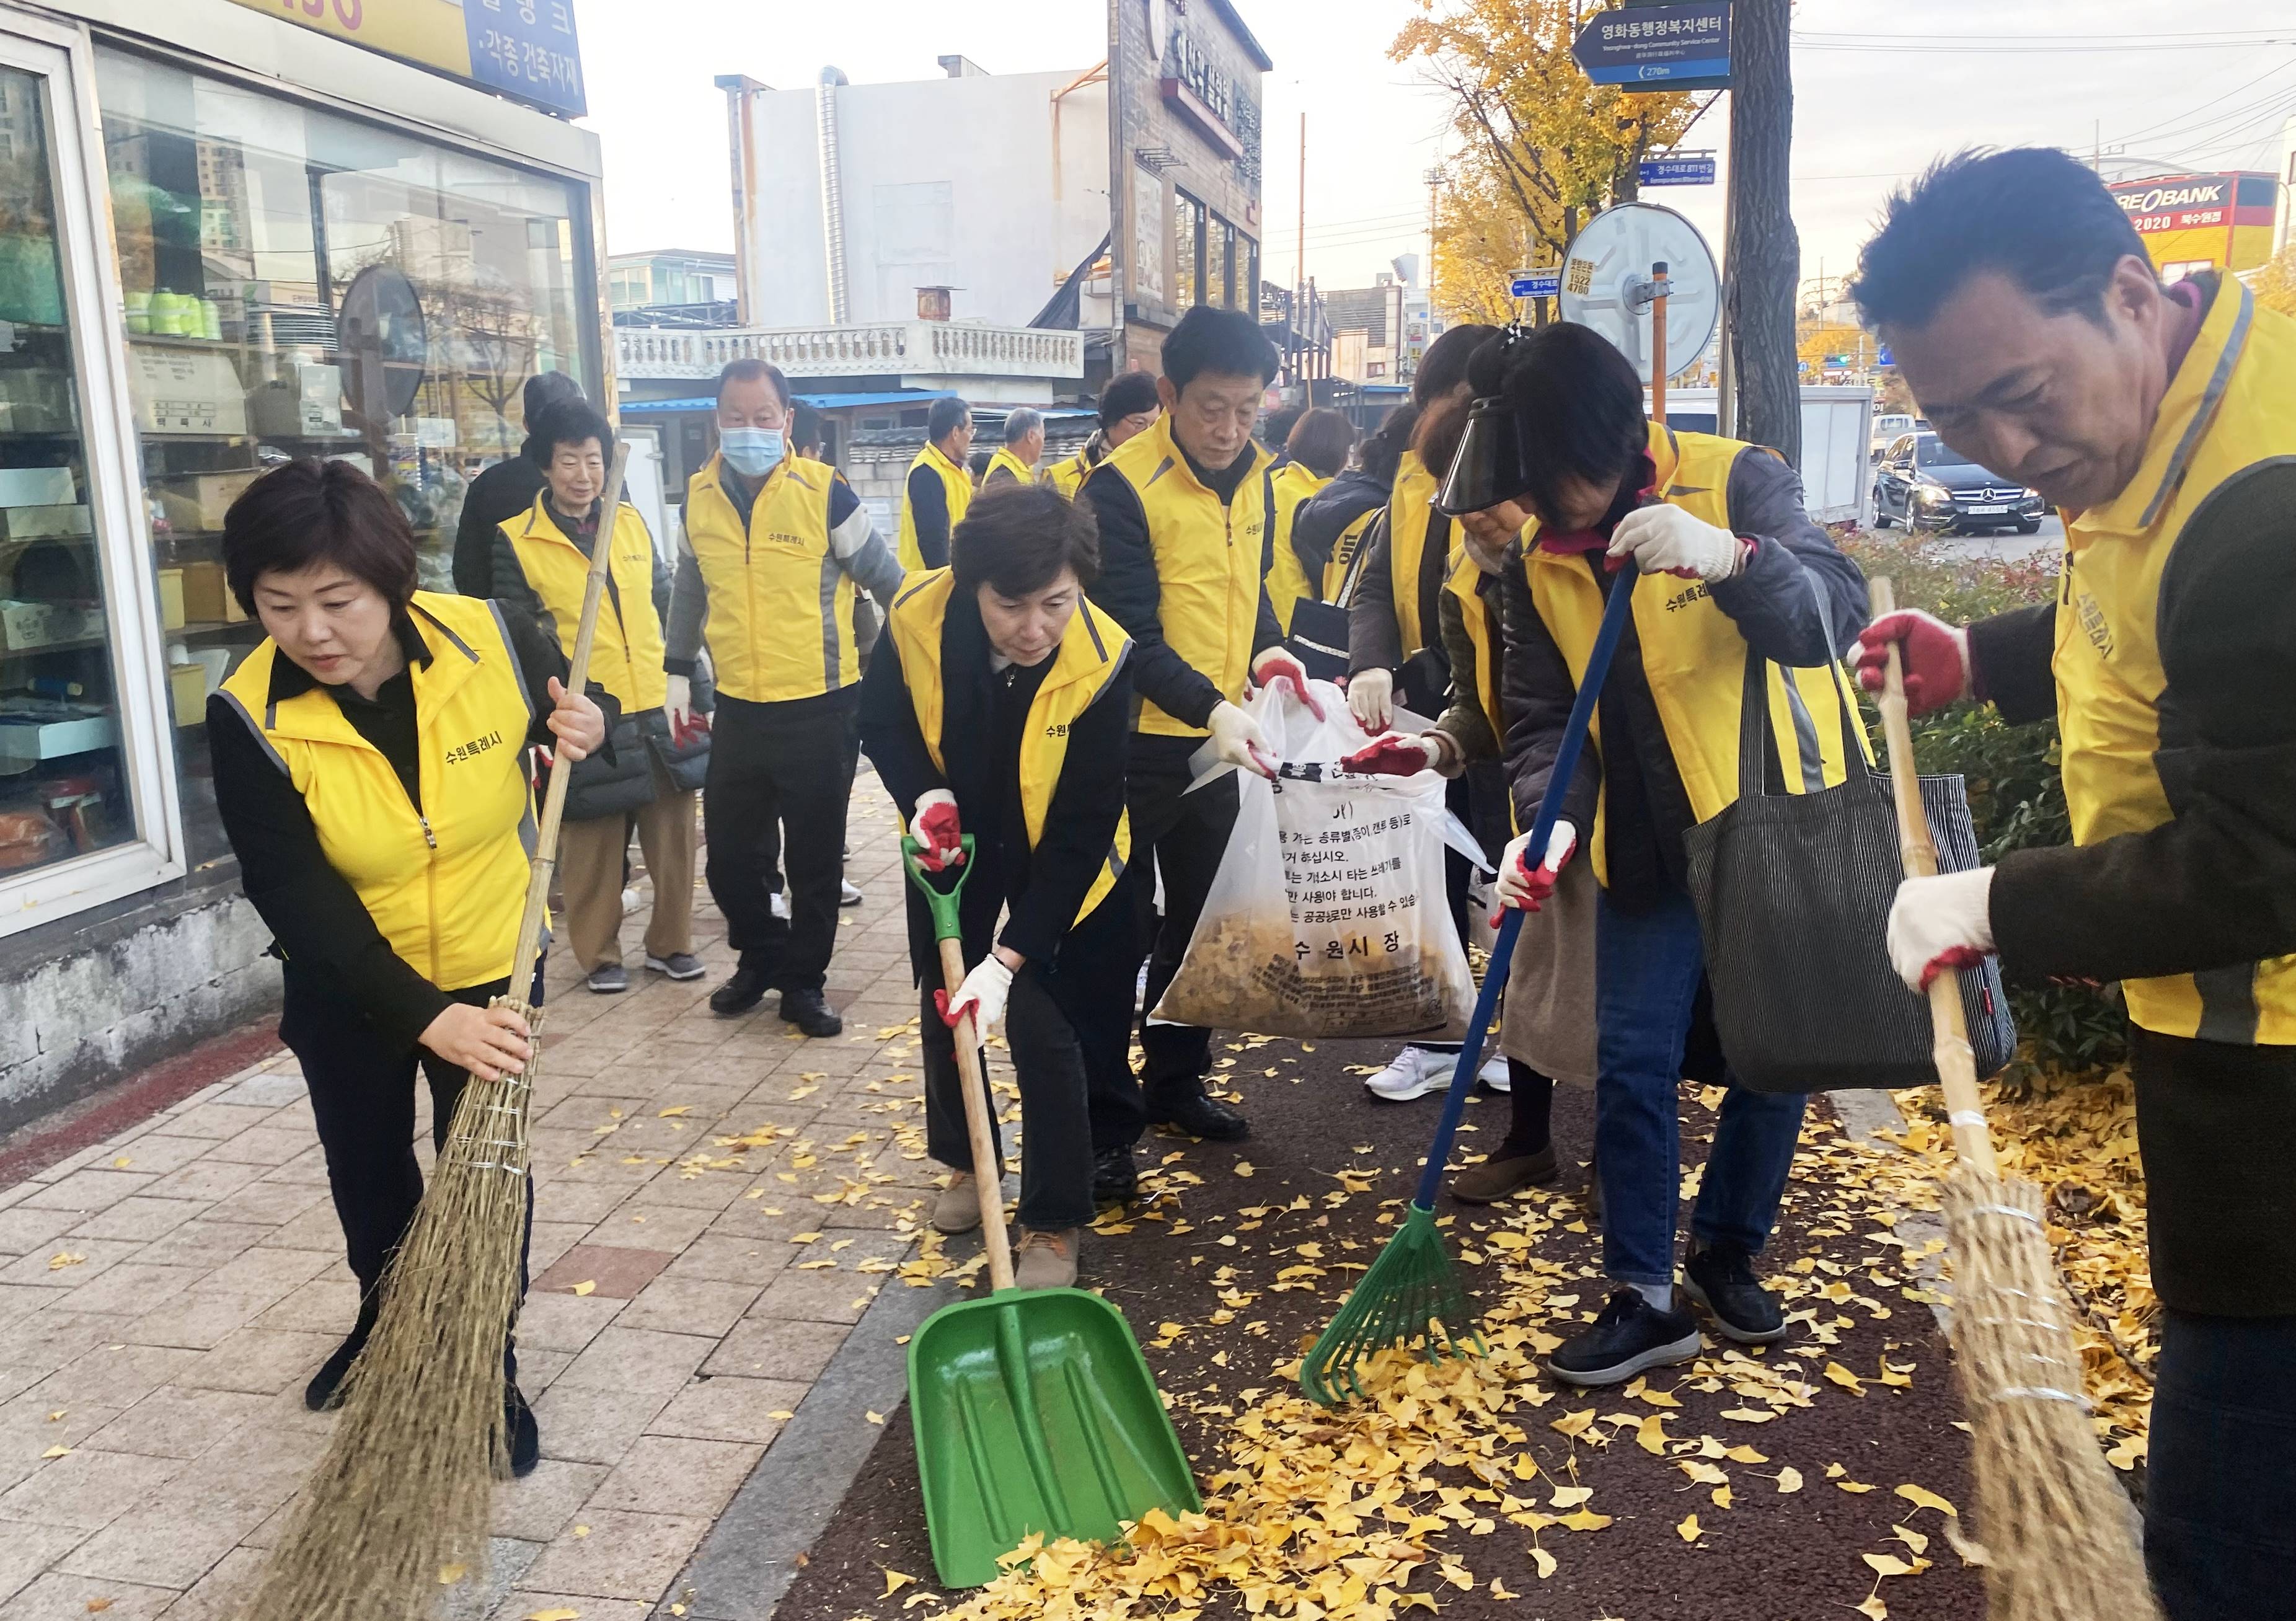
<path id="1" fill-rule="evenodd" d="M 974 1169 L 957 1081 L 955 1031 L 932 1006 L 939 978 L 925 983 L 918 1029 L 925 1036 L 925 1153 L 957 1171 Z M 1084 1100 L 1084 1047 L 1033 962 L 1013 976 L 1006 1001 L 1006 1049 L 1019 1084 L 1019 1224 L 1038 1233 L 1088 1226 L 1093 1219 L 1093 1137 Z M 983 1054 L 985 1056 L 985 1054 Z M 990 1137 L 1003 1166 L 996 1100 L 990 1098 Z"/>

